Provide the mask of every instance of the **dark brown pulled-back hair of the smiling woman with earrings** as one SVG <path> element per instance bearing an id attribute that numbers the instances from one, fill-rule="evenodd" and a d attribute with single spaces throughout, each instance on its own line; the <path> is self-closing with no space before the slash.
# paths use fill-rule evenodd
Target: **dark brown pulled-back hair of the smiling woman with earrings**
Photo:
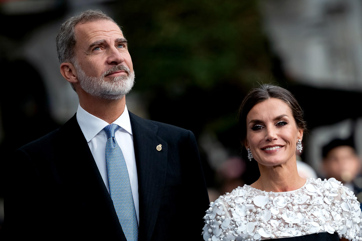
<path id="1" fill-rule="evenodd" d="M 247 96 L 245 96 L 243 102 L 240 105 L 239 129 L 241 144 L 244 144 L 247 134 L 246 121 L 249 111 L 253 108 L 254 105 L 270 98 L 279 99 L 285 102 L 289 106 L 298 128 L 302 129 L 303 131 L 307 130 L 307 123 L 303 119 L 303 110 L 300 108 L 298 101 L 296 101 L 291 92 L 272 84 L 261 84 L 258 87 L 252 88 L 252 90 L 249 92 L 249 94 L 247 94 Z"/>

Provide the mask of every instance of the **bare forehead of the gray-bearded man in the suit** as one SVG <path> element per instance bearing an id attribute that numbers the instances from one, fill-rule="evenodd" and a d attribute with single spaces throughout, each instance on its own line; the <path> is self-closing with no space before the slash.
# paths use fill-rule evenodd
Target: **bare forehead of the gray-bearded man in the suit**
<path id="1" fill-rule="evenodd" d="M 93 41 L 97 37 L 122 37 L 123 33 L 118 25 L 108 20 L 97 20 L 79 23 L 75 26 L 77 40 Z"/>

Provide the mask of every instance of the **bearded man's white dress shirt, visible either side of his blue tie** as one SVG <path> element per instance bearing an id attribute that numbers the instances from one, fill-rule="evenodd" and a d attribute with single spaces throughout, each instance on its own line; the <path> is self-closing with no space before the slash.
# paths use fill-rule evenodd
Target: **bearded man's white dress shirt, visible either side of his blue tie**
<path id="1" fill-rule="evenodd" d="M 109 192 L 107 167 L 106 167 L 106 142 L 107 133 L 103 128 L 109 125 L 108 122 L 99 119 L 96 116 L 85 111 L 80 105 L 77 110 L 77 121 L 82 130 L 85 140 L 88 142 L 90 151 L 92 152 L 94 161 L 96 161 L 99 172 L 103 178 L 104 184 Z M 131 128 L 130 116 L 125 106 L 125 111 L 112 124 L 121 126 L 115 133 L 115 139 L 119 147 L 121 147 L 123 156 L 125 157 L 128 174 L 132 188 L 133 201 L 135 204 L 137 221 L 139 223 L 139 203 L 138 203 L 138 179 L 135 150 L 133 146 L 133 135 Z"/>

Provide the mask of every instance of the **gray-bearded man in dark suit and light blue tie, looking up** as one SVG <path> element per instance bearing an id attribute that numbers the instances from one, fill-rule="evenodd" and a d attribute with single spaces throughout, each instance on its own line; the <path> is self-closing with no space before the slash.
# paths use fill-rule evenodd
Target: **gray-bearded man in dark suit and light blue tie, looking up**
<path id="1" fill-rule="evenodd" d="M 9 161 L 9 237 L 201 240 L 209 199 L 195 137 L 128 111 L 135 75 L 119 26 L 88 10 L 64 22 L 56 45 L 78 110 Z"/>

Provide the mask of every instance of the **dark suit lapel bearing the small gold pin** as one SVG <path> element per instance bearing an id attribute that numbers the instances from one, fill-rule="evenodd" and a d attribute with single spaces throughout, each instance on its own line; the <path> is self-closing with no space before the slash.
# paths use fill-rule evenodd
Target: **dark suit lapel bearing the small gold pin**
<path id="1" fill-rule="evenodd" d="M 156 135 L 156 125 L 129 113 L 138 175 L 139 240 L 149 241 L 165 184 L 167 142 Z M 162 145 L 160 151 L 158 145 Z"/>

